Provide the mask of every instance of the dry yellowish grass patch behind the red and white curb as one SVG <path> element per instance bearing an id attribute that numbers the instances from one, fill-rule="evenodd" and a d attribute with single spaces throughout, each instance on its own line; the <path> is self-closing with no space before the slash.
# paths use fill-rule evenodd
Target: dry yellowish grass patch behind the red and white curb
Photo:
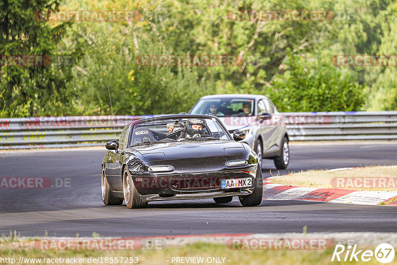
<path id="1" fill-rule="evenodd" d="M 351 182 L 343 181 L 343 185 L 341 187 L 340 185 L 332 185 L 332 179 L 334 179 L 333 184 L 337 183 L 335 178 L 362 178 L 361 180 L 364 180 L 364 178 L 384 178 L 386 181 L 385 185 L 382 185 L 382 182 L 379 182 L 379 180 L 368 180 L 367 183 L 364 181 L 358 181 L 355 183 L 355 180 L 352 179 Z M 390 182 L 390 178 L 395 179 L 392 179 L 392 182 Z M 340 188 L 357 191 L 397 191 L 396 180 L 397 166 L 372 166 L 332 172 L 327 170 L 302 171 L 270 179 L 270 182 L 309 188 Z"/>

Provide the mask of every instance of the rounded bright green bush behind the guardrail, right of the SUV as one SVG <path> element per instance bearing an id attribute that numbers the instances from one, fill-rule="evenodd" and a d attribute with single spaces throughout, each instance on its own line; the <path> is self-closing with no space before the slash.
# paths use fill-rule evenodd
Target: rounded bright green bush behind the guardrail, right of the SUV
<path id="1" fill-rule="evenodd" d="M 365 103 L 365 85 L 359 85 L 350 74 L 342 74 L 328 58 L 290 53 L 285 71 L 261 92 L 282 112 L 360 110 Z"/>

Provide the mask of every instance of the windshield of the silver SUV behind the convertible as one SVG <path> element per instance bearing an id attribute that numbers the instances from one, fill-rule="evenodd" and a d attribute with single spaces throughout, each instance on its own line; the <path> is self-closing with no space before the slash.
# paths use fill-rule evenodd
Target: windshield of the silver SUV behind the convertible
<path id="1" fill-rule="evenodd" d="M 244 98 L 201 99 L 193 107 L 191 114 L 218 117 L 253 116 L 254 102 L 253 99 Z"/>

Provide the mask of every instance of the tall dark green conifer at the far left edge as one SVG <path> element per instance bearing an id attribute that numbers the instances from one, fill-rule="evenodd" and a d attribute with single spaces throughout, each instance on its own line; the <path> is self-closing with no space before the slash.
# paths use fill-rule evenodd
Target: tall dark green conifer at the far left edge
<path id="1" fill-rule="evenodd" d="M 59 1 L 0 1 L 0 55 L 60 56 L 57 44 L 68 23 L 52 25 L 37 19 L 39 10 L 57 10 Z M 67 55 L 71 53 L 68 52 Z M 2 57 L 6 60 L 7 57 Z M 71 60 L 73 61 L 73 60 Z M 66 90 L 71 66 L 0 66 L 0 116 L 63 115 L 71 112 L 75 91 Z M 59 62 L 59 61 L 58 61 Z M 8 62 L 9 63 L 9 62 Z"/>

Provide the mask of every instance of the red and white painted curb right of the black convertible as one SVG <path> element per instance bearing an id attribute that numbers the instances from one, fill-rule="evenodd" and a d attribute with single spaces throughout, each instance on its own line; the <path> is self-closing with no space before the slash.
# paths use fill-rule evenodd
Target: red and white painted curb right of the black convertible
<path id="1" fill-rule="evenodd" d="M 336 203 L 397 206 L 397 192 L 353 191 L 332 188 L 304 188 L 264 180 L 264 199 L 307 200 Z"/>

